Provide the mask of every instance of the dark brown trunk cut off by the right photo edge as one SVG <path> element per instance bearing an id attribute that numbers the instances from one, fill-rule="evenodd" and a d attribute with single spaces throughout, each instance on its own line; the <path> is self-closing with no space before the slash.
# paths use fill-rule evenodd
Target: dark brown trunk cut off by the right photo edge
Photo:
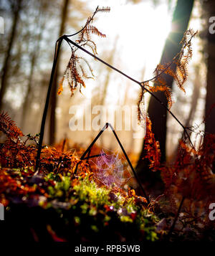
<path id="1" fill-rule="evenodd" d="M 205 1 L 204 9 L 207 11 L 206 22 L 211 16 L 215 16 L 215 2 Z M 210 25 L 210 24 L 209 24 Z M 207 77 L 206 77 L 206 105 L 205 105 L 205 133 L 215 133 L 215 34 L 207 34 L 206 52 L 207 58 Z"/>

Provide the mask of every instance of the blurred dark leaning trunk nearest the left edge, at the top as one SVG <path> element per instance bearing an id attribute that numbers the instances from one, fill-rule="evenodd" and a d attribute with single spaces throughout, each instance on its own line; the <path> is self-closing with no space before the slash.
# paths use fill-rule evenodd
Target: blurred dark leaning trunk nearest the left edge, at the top
<path id="1" fill-rule="evenodd" d="M 6 93 L 6 85 L 8 80 L 8 74 L 9 74 L 9 65 L 10 65 L 10 59 L 11 59 L 11 49 L 13 47 L 14 43 L 14 37 L 16 35 L 16 27 L 19 22 L 19 12 L 22 9 L 22 0 L 19 0 L 17 4 L 14 6 L 11 6 L 11 9 L 14 9 L 14 18 L 13 23 L 11 27 L 11 35 L 9 37 L 9 44 L 6 51 L 5 59 L 4 59 L 4 65 L 2 67 L 1 71 L 1 89 L 0 89 L 0 110 L 3 106 L 3 98 Z"/>

